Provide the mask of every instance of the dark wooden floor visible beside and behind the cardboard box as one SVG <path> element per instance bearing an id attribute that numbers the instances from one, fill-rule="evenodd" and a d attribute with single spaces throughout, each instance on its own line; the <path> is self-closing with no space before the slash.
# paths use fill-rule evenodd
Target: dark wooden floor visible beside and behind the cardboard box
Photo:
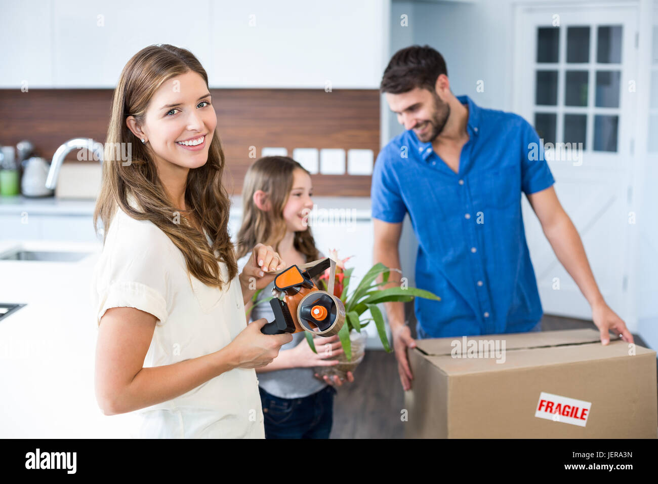
<path id="1" fill-rule="evenodd" d="M 595 326 L 592 321 L 567 317 L 544 315 L 542 319 L 542 331 L 580 328 L 595 329 Z M 638 335 L 633 338 L 640 346 L 647 346 Z M 402 439 L 404 422 L 400 412 L 404 408 L 404 396 L 395 356 L 384 351 L 368 351 L 354 376 L 354 383 L 338 389 L 331 438 Z"/>

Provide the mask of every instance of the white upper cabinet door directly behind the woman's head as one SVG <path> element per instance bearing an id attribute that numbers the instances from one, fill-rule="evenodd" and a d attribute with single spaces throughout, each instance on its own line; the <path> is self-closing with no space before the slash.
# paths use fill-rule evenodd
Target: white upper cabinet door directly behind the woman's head
<path id="1" fill-rule="evenodd" d="M 189 49 L 207 68 L 209 10 L 209 0 L 53 0 L 53 87 L 114 88 L 130 58 L 155 43 Z"/>

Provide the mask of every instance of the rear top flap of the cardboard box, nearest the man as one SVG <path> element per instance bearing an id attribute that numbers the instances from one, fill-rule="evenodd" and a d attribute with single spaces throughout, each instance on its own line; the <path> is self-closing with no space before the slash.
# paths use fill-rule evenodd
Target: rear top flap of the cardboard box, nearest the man
<path id="1" fill-rule="evenodd" d="M 619 336 L 610 336 L 610 340 L 619 339 Z M 502 347 L 505 342 L 505 350 L 520 350 L 524 348 L 543 348 L 550 346 L 564 346 L 570 344 L 585 344 L 600 342 L 599 331 L 595 329 L 565 329 L 561 331 L 539 331 L 529 333 L 502 333 L 498 335 L 478 336 L 456 336 L 453 338 L 433 338 L 416 340 L 417 348 L 426 355 L 450 355 L 453 349 L 475 346 L 470 341 L 477 343 L 478 354 L 483 348 L 493 348 L 497 342 Z M 481 343 L 481 342 L 482 343 Z M 486 344 L 485 342 L 488 342 Z"/>

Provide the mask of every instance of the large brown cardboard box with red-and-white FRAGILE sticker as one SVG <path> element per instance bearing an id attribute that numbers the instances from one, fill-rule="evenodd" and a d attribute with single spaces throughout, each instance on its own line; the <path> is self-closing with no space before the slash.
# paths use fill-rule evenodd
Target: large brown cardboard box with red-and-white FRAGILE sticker
<path id="1" fill-rule="evenodd" d="M 416 342 L 407 438 L 658 435 L 653 350 L 594 329 Z"/>

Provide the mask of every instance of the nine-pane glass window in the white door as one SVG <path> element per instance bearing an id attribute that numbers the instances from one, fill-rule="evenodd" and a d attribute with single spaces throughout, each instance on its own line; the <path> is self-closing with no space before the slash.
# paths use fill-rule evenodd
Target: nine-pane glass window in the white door
<path id="1" fill-rule="evenodd" d="M 618 151 L 622 36 L 615 24 L 537 26 L 533 115 L 545 144 Z"/>

